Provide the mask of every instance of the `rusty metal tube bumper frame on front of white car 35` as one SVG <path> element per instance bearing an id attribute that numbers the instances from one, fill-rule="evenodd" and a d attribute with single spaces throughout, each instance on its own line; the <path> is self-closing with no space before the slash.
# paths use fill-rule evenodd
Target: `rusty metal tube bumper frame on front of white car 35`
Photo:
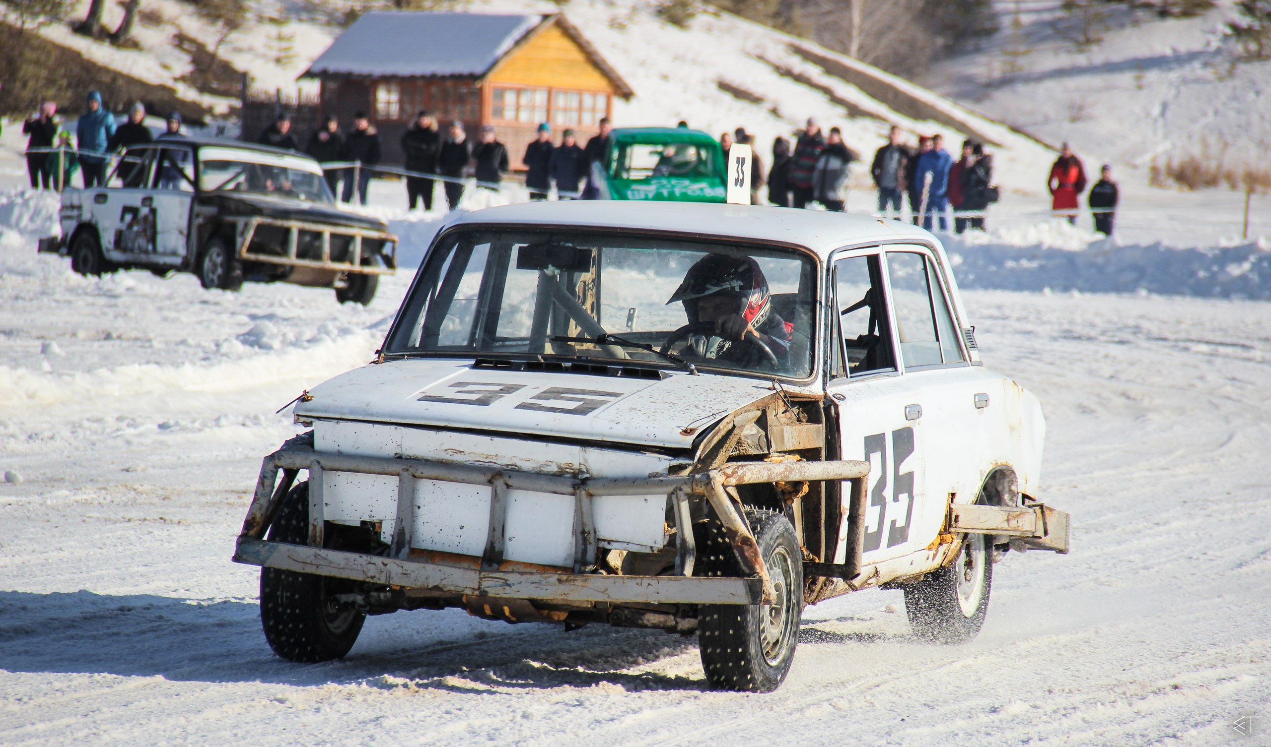
<path id="1" fill-rule="evenodd" d="M 283 479 L 278 483 L 278 471 Z M 290 545 L 264 540 L 282 499 L 299 470 L 309 470 L 309 544 Z M 323 545 L 323 470 L 374 475 L 397 475 L 403 485 L 399 495 L 409 494 L 407 480 L 425 479 L 491 487 L 491 528 L 480 569 L 423 563 L 409 559 L 409 527 L 414 523 L 413 502 L 398 501 L 397 522 L 388 556 L 344 553 Z M 586 478 L 544 475 L 498 470 L 479 465 L 451 464 L 417 459 L 348 456 L 319 452 L 304 441 L 292 440 L 261 465 L 255 495 L 243 522 L 234 560 L 316 573 L 374 583 L 419 587 L 456 595 L 508 597 L 522 600 L 563 600 L 587 602 L 680 602 L 680 603 L 770 603 L 774 593 L 768 568 L 754 534 L 746 523 L 740 502 L 728 488 L 751 483 L 850 480 L 852 512 L 863 512 L 864 461 L 731 462 L 707 473 L 666 478 Z M 501 570 L 503 545 L 502 517 L 508 489 L 573 495 L 574 568 L 573 573 L 529 573 Z M 582 573 L 595 563 L 596 536 L 591 522 L 594 495 L 666 494 L 675 504 L 677 558 L 683 575 L 601 575 Z M 732 542 L 741 568 L 749 578 L 694 578 L 695 546 L 686 497 L 707 498 Z M 862 522 L 854 522 L 859 525 Z M 859 532 L 857 532 L 859 534 Z M 859 569 L 862 537 L 848 537 L 850 565 Z"/>

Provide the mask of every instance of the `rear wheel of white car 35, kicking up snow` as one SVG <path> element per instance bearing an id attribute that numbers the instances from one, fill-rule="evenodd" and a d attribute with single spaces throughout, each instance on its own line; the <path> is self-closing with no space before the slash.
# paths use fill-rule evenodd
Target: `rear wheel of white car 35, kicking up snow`
<path id="1" fill-rule="evenodd" d="M 905 587 L 905 615 L 916 635 L 956 644 L 980 633 L 993 589 L 990 550 L 988 536 L 963 535 L 953 563 Z"/>

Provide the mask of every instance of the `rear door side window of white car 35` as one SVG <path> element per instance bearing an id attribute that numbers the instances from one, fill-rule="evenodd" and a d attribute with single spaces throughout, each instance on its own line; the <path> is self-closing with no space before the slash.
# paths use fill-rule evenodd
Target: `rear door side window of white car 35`
<path id="1" fill-rule="evenodd" d="M 962 348 L 930 258 L 916 252 L 888 252 L 887 277 L 905 367 L 962 362 Z"/>

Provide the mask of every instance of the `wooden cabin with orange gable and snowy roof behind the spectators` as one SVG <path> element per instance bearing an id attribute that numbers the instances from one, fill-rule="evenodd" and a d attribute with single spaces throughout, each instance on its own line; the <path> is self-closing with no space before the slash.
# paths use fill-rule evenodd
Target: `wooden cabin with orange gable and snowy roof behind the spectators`
<path id="1" fill-rule="evenodd" d="M 494 15 L 375 10 L 361 15 L 304 77 L 320 81 L 319 116 L 341 130 L 366 112 L 384 144 L 384 163 L 400 165 L 402 133 L 421 109 L 445 136 L 464 123 L 475 144 L 493 124 L 513 169 L 538 126 L 552 123 L 553 142 L 572 128 L 585 145 L 627 81 L 563 14 Z"/>

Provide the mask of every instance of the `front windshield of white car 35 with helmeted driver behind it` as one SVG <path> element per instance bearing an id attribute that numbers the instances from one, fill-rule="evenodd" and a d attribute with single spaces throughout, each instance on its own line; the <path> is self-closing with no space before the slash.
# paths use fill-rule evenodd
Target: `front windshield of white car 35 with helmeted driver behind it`
<path id="1" fill-rule="evenodd" d="M 815 277 L 802 253 L 736 243 L 458 230 L 428 254 L 385 353 L 802 379 Z"/>

